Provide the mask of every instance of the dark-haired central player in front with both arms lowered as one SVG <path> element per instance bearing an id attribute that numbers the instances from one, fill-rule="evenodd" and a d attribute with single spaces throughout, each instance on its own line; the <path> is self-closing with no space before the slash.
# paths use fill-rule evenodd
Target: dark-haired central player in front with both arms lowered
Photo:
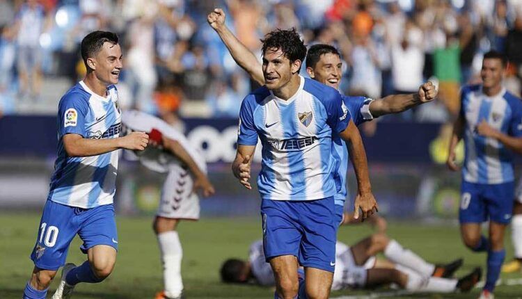
<path id="1" fill-rule="evenodd" d="M 242 102 L 232 171 L 241 184 L 252 188 L 251 157 L 260 138 L 264 251 L 276 275 L 276 296 L 297 296 L 301 264 L 307 279 L 300 292 L 328 298 L 338 227 L 333 196 L 341 188 L 332 134 L 347 141 L 358 183 L 355 213 L 358 216 L 360 208 L 362 218 L 367 218 L 377 202 L 363 143 L 339 92 L 299 76 L 306 46 L 295 29 L 272 31 L 262 43 L 266 84 Z"/>

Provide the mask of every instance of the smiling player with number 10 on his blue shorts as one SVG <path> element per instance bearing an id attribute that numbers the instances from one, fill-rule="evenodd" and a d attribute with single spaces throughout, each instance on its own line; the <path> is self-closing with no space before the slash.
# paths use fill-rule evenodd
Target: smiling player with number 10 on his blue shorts
<path id="1" fill-rule="evenodd" d="M 69 298 L 79 282 L 102 282 L 111 274 L 118 250 L 113 207 L 117 149 L 141 151 L 148 144 L 143 132 L 118 137 L 120 109 L 114 86 L 122 68 L 118 36 L 89 33 L 81 41 L 81 56 L 87 74 L 58 104 L 58 158 L 23 298 L 45 298 L 76 234 L 84 241 L 80 249 L 88 260 L 77 267 L 65 265 L 53 299 Z"/>

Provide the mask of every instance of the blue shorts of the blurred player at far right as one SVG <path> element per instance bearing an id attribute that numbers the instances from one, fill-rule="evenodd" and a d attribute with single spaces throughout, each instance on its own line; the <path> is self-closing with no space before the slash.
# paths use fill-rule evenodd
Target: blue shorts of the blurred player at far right
<path id="1" fill-rule="evenodd" d="M 475 184 L 462 181 L 460 223 L 483 223 L 488 218 L 508 224 L 513 213 L 514 183 Z"/>

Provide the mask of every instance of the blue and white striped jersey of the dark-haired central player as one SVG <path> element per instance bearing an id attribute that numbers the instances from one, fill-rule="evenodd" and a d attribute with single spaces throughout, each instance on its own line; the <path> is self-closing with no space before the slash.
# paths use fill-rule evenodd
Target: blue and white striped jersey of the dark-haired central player
<path id="1" fill-rule="evenodd" d="M 332 132 L 351 116 L 339 92 L 300 77 L 297 92 L 279 99 L 263 86 L 243 100 L 239 145 L 262 143 L 258 189 L 267 200 L 318 200 L 340 191 Z"/>

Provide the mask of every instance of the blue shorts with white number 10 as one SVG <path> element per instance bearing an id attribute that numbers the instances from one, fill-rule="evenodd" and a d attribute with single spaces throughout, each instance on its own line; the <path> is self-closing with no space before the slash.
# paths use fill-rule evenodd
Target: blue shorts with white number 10
<path id="1" fill-rule="evenodd" d="M 113 204 L 81 209 L 47 200 L 31 253 L 35 266 L 58 270 L 65 264 L 69 245 L 76 234 L 84 241 L 80 246 L 84 253 L 95 245 L 109 245 L 118 250 Z"/>

